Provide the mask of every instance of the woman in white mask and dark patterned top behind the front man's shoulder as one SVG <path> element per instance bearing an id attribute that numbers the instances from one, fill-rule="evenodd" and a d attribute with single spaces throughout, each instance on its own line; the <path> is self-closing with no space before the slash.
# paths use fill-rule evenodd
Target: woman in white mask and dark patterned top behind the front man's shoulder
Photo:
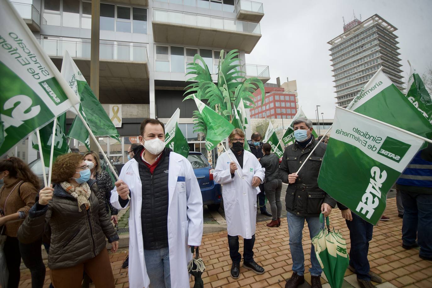
<path id="1" fill-rule="evenodd" d="M 90 179 L 95 179 L 96 184 L 99 188 L 99 195 L 104 201 L 105 209 L 107 213 L 111 210 L 111 221 L 117 224 L 118 210 L 111 205 L 111 190 L 114 188 L 112 180 L 107 171 L 101 169 L 98 153 L 94 151 L 87 152 L 84 154 L 84 160 L 90 168 Z"/>

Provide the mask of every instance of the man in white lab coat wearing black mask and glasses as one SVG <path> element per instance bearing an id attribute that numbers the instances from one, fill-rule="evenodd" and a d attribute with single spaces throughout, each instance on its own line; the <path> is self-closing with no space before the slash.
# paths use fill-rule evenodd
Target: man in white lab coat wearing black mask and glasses
<path id="1" fill-rule="evenodd" d="M 243 267 L 257 274 L 264 268 L 254 261 L 255 226 L 257 220 L 258 185 L 263 183 L 264 169 L 257 158 L 243 148 L 245 134 L 234 129 L 229 135 L 231 148 L 219 156 L 214 180 L 222 184 L 223 207 L 228 225 L 229 255 L 232 260 L 231 277 L 240 276 L 241 255 L 238 253 L 238 236 L 244 239 Z"/>

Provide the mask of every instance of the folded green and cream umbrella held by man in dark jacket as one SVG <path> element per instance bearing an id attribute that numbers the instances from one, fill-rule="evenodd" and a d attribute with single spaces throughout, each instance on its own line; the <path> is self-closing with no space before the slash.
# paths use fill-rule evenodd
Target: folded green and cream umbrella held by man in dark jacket
<path id="1" fill-rule="evenodd" d="M 323 214 L 320 214 L 320 222 L 324 222 Z M 312 244 L 330 287 L 341 288 L 349 264 L 346 241 L 339 232 L 330 231 L 328 217 L 326 217 L 326 226 L 327 228 L 321 228 L 321 231 L 312 238 Z"/>

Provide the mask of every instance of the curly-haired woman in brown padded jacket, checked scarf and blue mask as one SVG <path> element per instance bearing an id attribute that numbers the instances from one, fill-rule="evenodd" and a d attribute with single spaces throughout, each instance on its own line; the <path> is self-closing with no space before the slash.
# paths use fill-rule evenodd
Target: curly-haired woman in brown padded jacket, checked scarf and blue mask
<path id="1" fill-rule="evenodd" d="M 96 181 L 80 154 L 57 157 L 52 185 L 39 192 L 39 200 L 18 231 L 20 241 L 34 241 L 51 227 L 48 267 L 56 288 L 80 288 L 83 272 L 96 287 L 114 288 L 114 276 L 105 237 L 118 248 L 118 235 L 98 195 Z"/>

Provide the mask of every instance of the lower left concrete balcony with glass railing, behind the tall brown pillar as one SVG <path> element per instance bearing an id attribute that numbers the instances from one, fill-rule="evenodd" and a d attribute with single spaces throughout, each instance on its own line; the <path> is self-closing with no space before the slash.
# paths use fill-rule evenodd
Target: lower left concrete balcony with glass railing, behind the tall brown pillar
<path id="1" fill-rule="evenodd" d="M 59 70 L 64 51 L 67 50 L 87 82 L 90 82 L 90 39 L 38 41 Z M 119 103 L 119 99 L 124 104 L 149 103 L 149 57 L 146 44 L 106 44 L 101 40 L 99 59 L 101 103 Z"/>

